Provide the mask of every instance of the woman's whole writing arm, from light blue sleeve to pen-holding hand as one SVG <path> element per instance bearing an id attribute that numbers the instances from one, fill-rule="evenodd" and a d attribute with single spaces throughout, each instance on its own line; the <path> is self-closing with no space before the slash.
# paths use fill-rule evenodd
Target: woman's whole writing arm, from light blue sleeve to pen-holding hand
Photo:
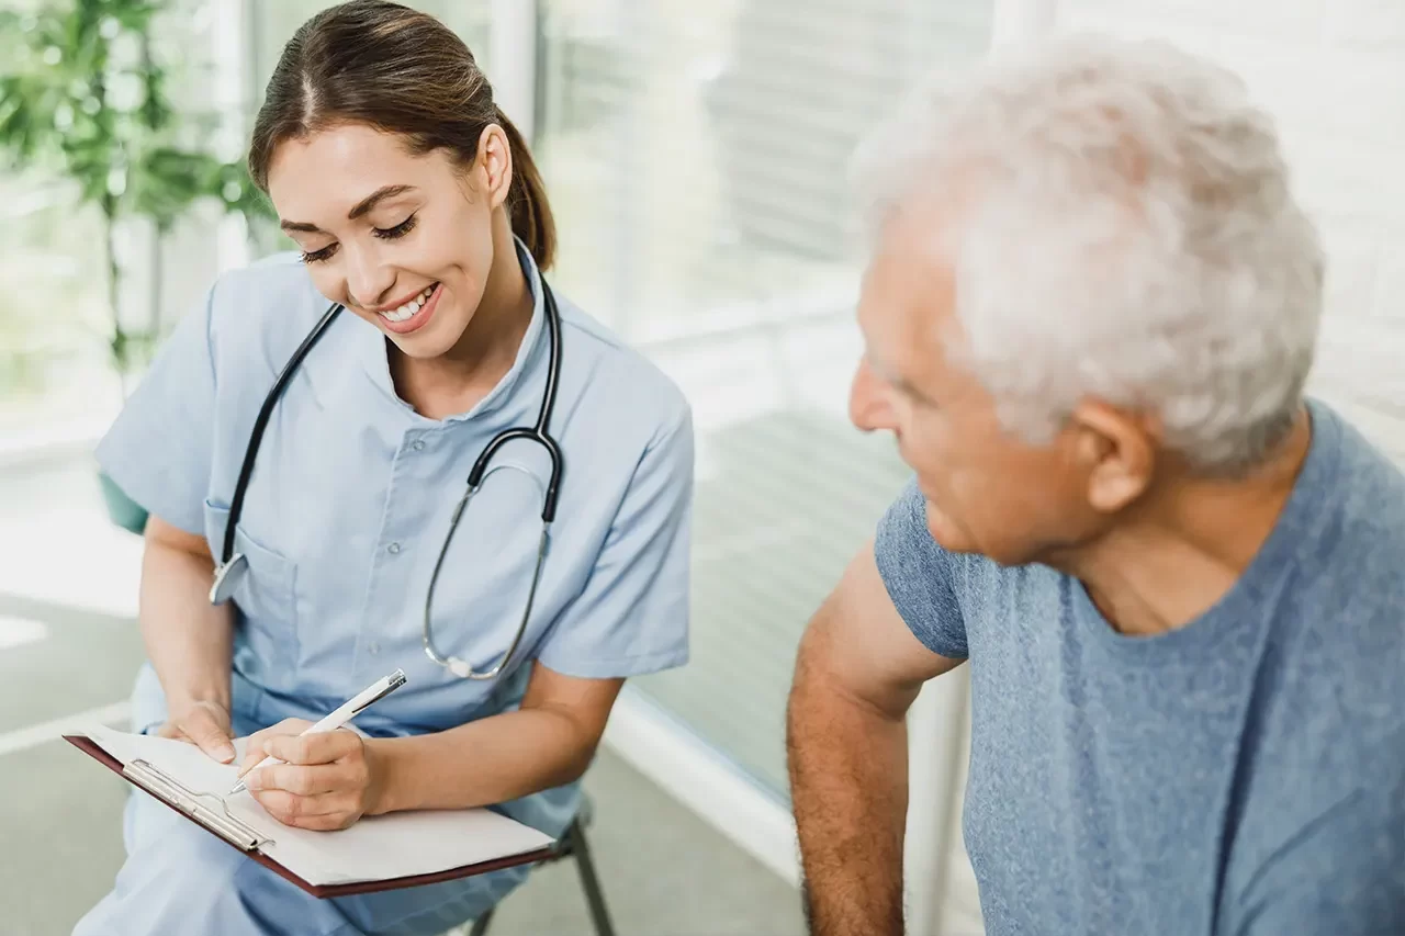
<path id="1" fill-rule="evenodd" d="M 673 402 L 517 711 L 395 739 L 298 738 L 309 722 L 274 725 L 244 755 L 243 769 L 266 753 L 285 762 L 246 777 L 259 802 L 289 825 L 340 829 L 374 812 L 504 802 L 584 773 L 624 679 L 687 659 L 693 419 L 681 395 Z"/>

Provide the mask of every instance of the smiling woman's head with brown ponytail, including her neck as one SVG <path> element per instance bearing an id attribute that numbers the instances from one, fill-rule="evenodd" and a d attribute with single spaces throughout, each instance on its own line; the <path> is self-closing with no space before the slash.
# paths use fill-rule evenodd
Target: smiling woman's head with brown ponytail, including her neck
<path id="1" fill-rule="evenodd" d="M 555 223 L 472 52 L 431 17 L 377 15 L 322 14 L 292 37 L 254 125 L 250 170 L 318 290 L 392 339 L 412 394 L 444 364 L 479 371 L 447 412 L 468 409 L 524 333 L 530 297 L 504 247 L 516 233 L 548 268 Z M 405 256 L 414 261 L 395 275 Z"/>

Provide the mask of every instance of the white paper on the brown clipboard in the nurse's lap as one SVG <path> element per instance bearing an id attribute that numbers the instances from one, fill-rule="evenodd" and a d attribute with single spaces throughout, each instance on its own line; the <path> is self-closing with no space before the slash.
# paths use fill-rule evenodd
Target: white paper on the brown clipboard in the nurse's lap
<path id="1" fill-rule="evenodd" d="M 243 739 L 233 765 L 197 746 L 94 727 L 83 732 L 124 766 L 145 760 L 191 793 L 218 795 L 230 817 L 271 839 L 260 850 L 313 885 L 382 881 L 433 874 L 465 864 L 534 852 L 549 836 L 489 810 L 433 810 L 367 817 L 347 829 L 313 832 L 273 818 L 249 793 L 225 797 L 235 786 Z M 146 795 L 145 793 L 142 795 Z"/>

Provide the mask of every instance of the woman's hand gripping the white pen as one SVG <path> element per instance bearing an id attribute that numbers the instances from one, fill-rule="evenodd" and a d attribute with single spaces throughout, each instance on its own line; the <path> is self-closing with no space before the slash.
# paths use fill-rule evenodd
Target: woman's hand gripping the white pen
<path id="1" fill-rule="evenodd" d="M 344 829 L 377 811 L 382 786 L 378 765 L 365 739 L 354 731 L 339 728 L 299 736 L 311 725 L 288 718 L 249 735 L 239 770 L 249 793 L 284 825 Z M 250 770 L 266 755 L 285 763 Z"/>

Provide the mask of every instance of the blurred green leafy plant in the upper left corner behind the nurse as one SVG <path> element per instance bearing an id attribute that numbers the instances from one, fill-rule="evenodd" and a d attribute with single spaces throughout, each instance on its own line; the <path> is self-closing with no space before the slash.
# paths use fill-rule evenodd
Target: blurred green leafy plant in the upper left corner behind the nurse
<path id="1" fill-rule="evenodd" d="M 124 222 L 156 232 L 152 263 L 171 226 L 197 202 L 216 200 L 250 222 L 273 211 L 242 162 L 209 143 L 218 118 L 177 110 L 176 70 L 153 51 L 166 0 L 45 0 L 32 11 L 0 10 L 0 162 L 41 166 L 72 180 L 79 208 L 96 208 L 105 232 L 111 360 L 125 378 L 162 337 L 160 270 L 149 315 L 131 326 L 119 311 Z"/>

